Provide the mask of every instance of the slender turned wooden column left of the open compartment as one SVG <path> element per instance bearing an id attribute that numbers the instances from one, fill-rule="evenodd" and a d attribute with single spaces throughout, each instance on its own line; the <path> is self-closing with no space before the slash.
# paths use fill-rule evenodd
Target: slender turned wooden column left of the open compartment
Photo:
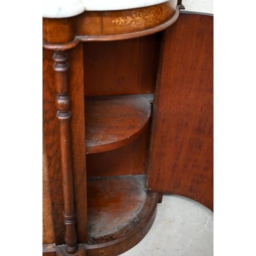
<path id="1" fill-rule="evenodd" d="M 55 85 L 57 96 L 55 100 L 57 118 L 59 120 L 60 156 L 63 189 L 63 217 L 65 224 L 65 242 L 68 253 L 77 250 L 76 211 L 74 204 L 73 171 L 71 157 L 70 135 L 70 106 L 71 99 L 68 94 L 68 54 L 66 51 L 55 51 L 53 69 L 55 70 Z"/>

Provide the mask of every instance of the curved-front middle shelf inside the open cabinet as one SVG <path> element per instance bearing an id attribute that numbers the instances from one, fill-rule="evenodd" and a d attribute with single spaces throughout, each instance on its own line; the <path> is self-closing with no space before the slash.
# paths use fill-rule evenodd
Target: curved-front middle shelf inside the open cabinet
<path id="1" fill-rule="evenodd" d="M 154 94 L 85 97 L 86 153 L 114 150 L 135 140 L 150 121 Z"/>

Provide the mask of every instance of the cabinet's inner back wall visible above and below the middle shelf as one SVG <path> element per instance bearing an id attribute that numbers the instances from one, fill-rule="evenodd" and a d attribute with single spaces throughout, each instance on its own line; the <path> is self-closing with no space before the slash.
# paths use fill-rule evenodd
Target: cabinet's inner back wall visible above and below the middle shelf
<path id="1" fill-rule="evenodd" d="M 154 93 L 160 39 L 161 32 L 122 41 L 85 42 L 84 94 Z M 135 141 L 123 147 L 87 155 L 88 177 L 145 174 L 150 126 Z"/>

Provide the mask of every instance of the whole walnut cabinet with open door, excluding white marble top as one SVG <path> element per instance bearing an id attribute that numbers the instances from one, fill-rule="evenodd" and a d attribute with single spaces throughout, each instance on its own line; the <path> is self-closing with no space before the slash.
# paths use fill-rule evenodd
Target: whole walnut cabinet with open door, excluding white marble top
<path id="1" fill-rule="evenodd" d="M 44 255 L 130 249 L 162 193 L 212 209 L 212 17 L 154 8 L 44 18 Z"/>

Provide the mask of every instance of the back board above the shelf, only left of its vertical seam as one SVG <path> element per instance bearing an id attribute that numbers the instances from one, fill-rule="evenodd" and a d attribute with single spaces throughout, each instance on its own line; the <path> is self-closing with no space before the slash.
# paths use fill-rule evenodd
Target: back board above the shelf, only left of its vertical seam
<path id="1" fill-rule="evenodd" d="M 137 94 L 140 38 L 83 46 L 85 96 Z"/>

